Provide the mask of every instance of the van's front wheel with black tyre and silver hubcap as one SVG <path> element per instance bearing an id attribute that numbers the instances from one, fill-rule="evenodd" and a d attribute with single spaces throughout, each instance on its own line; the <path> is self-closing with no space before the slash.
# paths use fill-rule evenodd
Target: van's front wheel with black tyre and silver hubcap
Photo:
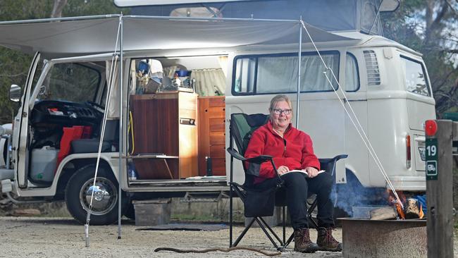
<path id="1" fill-rule="evenodd" d="M 70 214 L 78 222 L 87 220 L 87 210 L 94 181 L 95 164 L 83 166 L 75 171 L 66 187 L 66 204 Z M 118 221 L 118 182 L 111 168 L 99 165 L 96 180 L 97 192 L 92 200 L 91 225 L 109 225 Z M 125 192 L 121 191 L 121 210 L 128 204 Z"/>

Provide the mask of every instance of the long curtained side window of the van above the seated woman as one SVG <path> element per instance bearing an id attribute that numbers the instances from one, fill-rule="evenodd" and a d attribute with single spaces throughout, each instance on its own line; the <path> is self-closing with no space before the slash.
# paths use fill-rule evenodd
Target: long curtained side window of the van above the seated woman
<path id="1" fill-rule="evenodd" d="M 321 53 L 326 66 L 333 69 L 338 79 L 338 51 Z M 338 88 L 332 73 L 328 77 L 333 87 L 323 75 L 326 71 L 316 53 L 303 53 L 301 56 L 301 92 L 323 92 Z M 271 54 L 238 56 L 235 59 L 233 94 L 274 94 L 297 92 L 297 54 Z"/>

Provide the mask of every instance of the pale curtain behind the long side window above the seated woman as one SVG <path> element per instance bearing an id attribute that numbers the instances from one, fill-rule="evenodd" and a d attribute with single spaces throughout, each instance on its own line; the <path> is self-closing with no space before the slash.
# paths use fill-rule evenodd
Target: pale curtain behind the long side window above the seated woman
<path id="1" fill-rule="evenodd" d="M 338 76 L 338 54 L 323 54 L 326 66 Z M 278 93 L 297 91 L 297 56 L 259 57 L 256 77 L 256 93 Z M 323 72 L 325 66 L 318 55 L 301 58 L 301 91 L 321 92 L 333 90 Z M 332 75 L 329 74 L 332 78 Z M 333 79 L 331 79 L 333 81 Z M 335 88 L 337 83 L 333 82 Z"/>

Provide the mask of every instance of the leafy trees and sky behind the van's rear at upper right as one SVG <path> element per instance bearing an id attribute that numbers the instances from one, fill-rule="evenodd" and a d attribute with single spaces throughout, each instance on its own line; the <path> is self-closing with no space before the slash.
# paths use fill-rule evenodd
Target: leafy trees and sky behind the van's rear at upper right
<path id="1" fill-rule="evenodd" d="M 405 0 L 382 20 L 385 37 L 423 54 L 438 117 L 458 111 L 458 1 Z"/>

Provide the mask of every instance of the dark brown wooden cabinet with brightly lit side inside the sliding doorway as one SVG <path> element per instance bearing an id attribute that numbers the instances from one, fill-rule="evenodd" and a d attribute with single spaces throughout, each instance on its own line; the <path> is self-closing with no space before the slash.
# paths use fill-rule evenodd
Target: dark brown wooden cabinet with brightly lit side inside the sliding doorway
<path id="1" fill-rule="evenodd" d="M 197 94 L 161 92 L 130 96 L 132 155 L 165 154 L 168 159 L 133 159 L 138 179 L 197 176 Z M 132 137 L 130 141 L 132 141 Z"/>

